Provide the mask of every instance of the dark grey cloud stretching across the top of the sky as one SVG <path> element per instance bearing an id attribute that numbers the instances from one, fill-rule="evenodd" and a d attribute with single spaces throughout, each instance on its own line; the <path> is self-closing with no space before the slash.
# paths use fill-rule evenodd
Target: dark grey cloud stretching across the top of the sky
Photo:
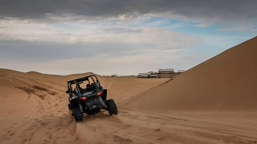
<path id="1" fill-rule="evenodd" d="M 42 19 L 45 14 L 66 17 L 73 16 L 109 17 L 133 14 L 171 12 L 188 18 L 250 20 L 257 18 L 257 1 L 181 1 L 181 0 L 9 0 L 1 1 L 0 17 Z"/>

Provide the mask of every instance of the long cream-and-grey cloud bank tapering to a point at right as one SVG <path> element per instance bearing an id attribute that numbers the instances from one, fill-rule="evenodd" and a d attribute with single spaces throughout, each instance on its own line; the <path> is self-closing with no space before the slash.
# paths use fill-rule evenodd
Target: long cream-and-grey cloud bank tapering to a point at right
<path id="1" fill-rule="evenodd" d="M 49 33 L 0 33 L 1 59 L 35 61 L 95 55 L 129 56 L 181 49 L 199 43 L 197 37 L 151 27 L 92 29 L 84 34 Z"/>

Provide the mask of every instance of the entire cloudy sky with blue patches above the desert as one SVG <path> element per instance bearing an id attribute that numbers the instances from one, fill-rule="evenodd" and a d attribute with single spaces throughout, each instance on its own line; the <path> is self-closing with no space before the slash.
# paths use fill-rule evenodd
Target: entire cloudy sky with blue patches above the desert
<path id="1" fill-rule="evenodd" d="M 0 68 L 187 70 L 257 35 L 257 1 L 0 1 Z"/>

